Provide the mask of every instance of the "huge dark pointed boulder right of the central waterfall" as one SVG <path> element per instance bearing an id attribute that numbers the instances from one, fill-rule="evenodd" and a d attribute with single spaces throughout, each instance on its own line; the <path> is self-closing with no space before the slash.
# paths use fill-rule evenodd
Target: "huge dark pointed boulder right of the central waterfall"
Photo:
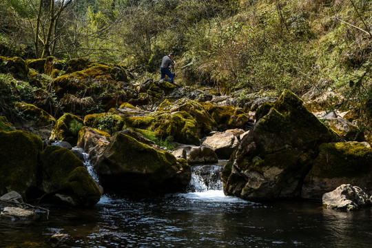
<path id="1" fill-rule="evenodd" d="M 289 90 L 247 134 L 236 151 L 225 194 L 247 199 L 299 197 L 319 145 L 340 137 Z"/>

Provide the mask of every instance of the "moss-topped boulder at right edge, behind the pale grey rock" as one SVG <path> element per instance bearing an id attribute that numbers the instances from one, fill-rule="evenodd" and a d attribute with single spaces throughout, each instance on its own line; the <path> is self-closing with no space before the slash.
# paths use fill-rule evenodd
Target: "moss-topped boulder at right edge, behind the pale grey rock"
<path id="1" fill-rule="evenodd" d="M 324 143 L 304 178 L 302 198 L 321 200 L 322 195 L 350 183 L 372 193 L 372 149 L 368 143 Z"/>

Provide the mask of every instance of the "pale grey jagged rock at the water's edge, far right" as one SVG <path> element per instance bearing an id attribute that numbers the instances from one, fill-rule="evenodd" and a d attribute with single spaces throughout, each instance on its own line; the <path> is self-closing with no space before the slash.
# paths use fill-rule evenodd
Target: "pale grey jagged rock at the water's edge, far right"
<path id="1" fill-rule="evenodd" d="M 371 200 L 360 187 L 344 184 L 333 192 L 325 193 L 322 203 L 331 209 L 353 211 L 371 205 Z"/>

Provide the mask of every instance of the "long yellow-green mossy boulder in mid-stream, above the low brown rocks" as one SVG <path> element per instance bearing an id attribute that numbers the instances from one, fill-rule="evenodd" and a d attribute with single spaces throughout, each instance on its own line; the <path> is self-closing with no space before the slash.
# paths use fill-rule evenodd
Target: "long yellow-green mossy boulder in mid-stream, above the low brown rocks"
<path id="1" fill-rule="evenodd" d="M 198 124 L 187 112 L 156 112 L 147 116 L 130 116 L 124 118 L 123 128 L 152 130 L 157 138 L 173 136 L 174 141 L 200 145 Z"/>

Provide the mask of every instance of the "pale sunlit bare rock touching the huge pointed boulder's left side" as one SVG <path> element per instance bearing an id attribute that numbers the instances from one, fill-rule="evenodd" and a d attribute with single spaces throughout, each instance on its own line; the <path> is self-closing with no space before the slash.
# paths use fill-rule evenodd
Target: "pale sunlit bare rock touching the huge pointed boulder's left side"
<path id="1" fill-rule="evenodd" d="M 211 136 L 207 136 L 203 141 L 203 145 L 211 147 L 216 152 L 218 158 L 228 159 L 238 147 L 238 138 L 230 132 L 216 132 Z"/>

